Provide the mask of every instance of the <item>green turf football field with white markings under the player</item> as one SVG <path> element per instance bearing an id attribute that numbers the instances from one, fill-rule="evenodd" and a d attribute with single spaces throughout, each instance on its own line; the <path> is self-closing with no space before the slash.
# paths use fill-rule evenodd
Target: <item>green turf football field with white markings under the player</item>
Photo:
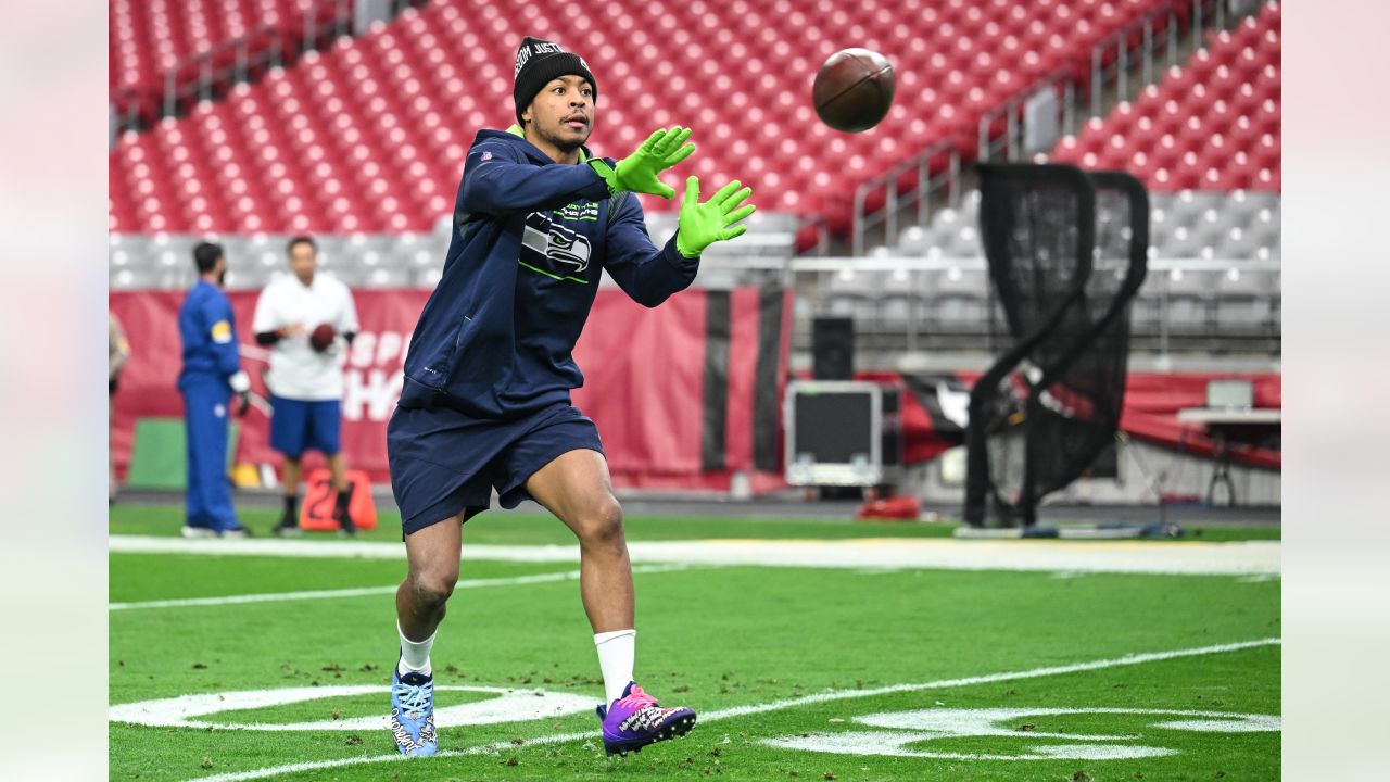
<path id="1" fill-rule="evenodd" d="M 181 518 L 118 506 L 111 532 L 172 536 Z M 242 520 L 264 530 L 274 513 Z M 384 513 L 370 537 L 399 541 L 396 523 Z M 628 522 L 634 541 L 948 533 Z M 573 543 L 553 519 L 506 513 L 470 522 L 464 540 Z M 439 717 L 443 754 L 404 761 L 374 724 L 388 711 L 389 593 L 403 569 L 403 559 L 111 554 L 111 779 L 1266 781 L 1280 771 L 1277 577 L 638 565 L 639 682 L 694 707 L 701 724 L 609 760 L 574 565 L 467 561 L 432 655 L 438 686 L 457 687 L 436 701 L 455 707 Z M 179 600 L 203 603 L 168 603 Z"/>

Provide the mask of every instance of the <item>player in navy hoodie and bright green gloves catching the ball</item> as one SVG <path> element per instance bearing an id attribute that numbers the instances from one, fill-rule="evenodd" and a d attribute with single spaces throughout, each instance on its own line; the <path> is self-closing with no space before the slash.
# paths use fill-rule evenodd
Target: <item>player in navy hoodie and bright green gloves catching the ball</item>
<path id="1" fill-rule="evenodd" d="M 612 753 L 684 735 L 689 708 L 663 708 L 632 680 L 634 598 L 623 512 L 594 422 L 570 404 L 584 383 L 571 355 L 603 271 L 649 308 L 687 288 L 701 252 L 741 235 L 751 189 L 708 202 L 689 177 L 678 230 L 662 246 L 632 193 L 666 199 L 657 174 L 695 152 L 684 128 L 652 134 L 617 161 L 585 142 L 598 85 L 588 64 L 527 38 L 513 68 L 517 124 L 478 132 L 455 200 L 443 276 L 420 314 L 386 430 L 406 579 L 396 593 L 400 658 L 391 731 L 406 756 L 434 754 L 430 650 L 459 580 L 461 526 L 498 491 L 532 498 L 580 543 L 580 596 L 594 629 Z M 637 415 L 634 412 L 634 415 Z"/>

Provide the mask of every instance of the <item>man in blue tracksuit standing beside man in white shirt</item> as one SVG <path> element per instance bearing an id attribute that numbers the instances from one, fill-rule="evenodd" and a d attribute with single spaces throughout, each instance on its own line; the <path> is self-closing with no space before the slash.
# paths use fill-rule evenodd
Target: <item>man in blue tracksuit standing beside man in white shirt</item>
<path id="1" fill-rule="evenodd" d="M 193 248 L 197 284 L 178 310 L 183 344 L 183 369 L 178 390 L 183 395 L 188 444 L 188 519 L 183 537 L 245 537 L 232 509 L 227 477 L 227 416 L 232 395 L 246 410 L 250 378 L 242 372 L 236 351 L 236 317 L 222 292 L 227 257 L 222 248 L 203 242 Z"/>

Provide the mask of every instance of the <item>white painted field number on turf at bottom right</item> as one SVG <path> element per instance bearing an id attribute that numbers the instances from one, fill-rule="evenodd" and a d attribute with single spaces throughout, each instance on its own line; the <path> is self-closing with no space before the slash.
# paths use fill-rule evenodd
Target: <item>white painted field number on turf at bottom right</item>
<path id="1" fill-rule="evenodd" d="M 1037 718 L 1069 714 L 1145 717 L 1144 724 L 1163 731 L 1202 733 L 1277 732 L 1279 717 L 1225 711 L 1173 711 L 1158 708 L 923 708 L 855 717 L 853 722 L 877 731 L 845 731 L 766 739 L 762 743 L 788 750 L 924 757 L 938 760 L 1130 760 L 1177 754 L 1168 747 L 1136 744 L 1133 735 L 1084 735 L 1020 731 Z M 960 753 L 929 749 L 940 739 L 1009 737 L 1027 742 L 1017 754 Z M 1152 737 L 1152 735 L 1144 736 Z M 1041 743 L 1040 743 L 1041 740 Z M 1001 742 L 1002 743 L 1002 742 Z"/>

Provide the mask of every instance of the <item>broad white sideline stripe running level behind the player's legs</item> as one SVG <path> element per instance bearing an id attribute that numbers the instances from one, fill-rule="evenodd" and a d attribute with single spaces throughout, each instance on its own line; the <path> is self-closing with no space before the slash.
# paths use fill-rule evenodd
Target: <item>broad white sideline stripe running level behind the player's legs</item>
<path id="1" fill-rule="evenodd" d="M 402 559 L 384 541 L 220 540 L 111 536 L 110 551 L 247 557 L 360 557 Z M 674 540 L 630 543 L 632 562 L 790 568 L 917 568 L 942 570 L 1069 570 L 1255 576 L 1280 573 L 1280 544 L 1068 540 Z M 578 545 L 464 545 L 464 561 L 578 564 Z"/>

